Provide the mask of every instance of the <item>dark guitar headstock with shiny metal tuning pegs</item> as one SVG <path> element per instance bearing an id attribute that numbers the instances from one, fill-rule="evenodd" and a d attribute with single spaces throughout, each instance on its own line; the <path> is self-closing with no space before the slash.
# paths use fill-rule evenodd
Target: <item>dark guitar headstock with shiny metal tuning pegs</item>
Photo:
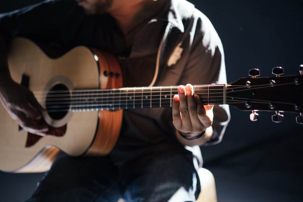
<path id="1" fill-rule="evenodd" d="M 244 111 L 252 111 L 251 121 L 258 120 L 257 111 L 274 111 L 273 122 L 282 122 L 281 112 L 299 113 L 298 124 L 303 124 L 303 65 L 300 75 L 283 76 L 282 67 L 275 67 L 275 77 L 258 77 L 258 69 L 249 70 L 251 78 L 229 83 L 225 90 L 225 103 Z M 258 77 L 258 78 L 257 78 Z"/>

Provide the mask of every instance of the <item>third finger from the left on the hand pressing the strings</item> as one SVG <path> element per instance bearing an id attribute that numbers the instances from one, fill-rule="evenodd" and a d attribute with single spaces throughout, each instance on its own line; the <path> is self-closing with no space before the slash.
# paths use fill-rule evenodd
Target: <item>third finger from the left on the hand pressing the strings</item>
<path id="1" fill-rule="evenodd" d="M 188 105 L 188 113 L 191 120 L 192 128 L 194 129 L 193 132 L 201 132 L 203 130 L 203 125 L 198 119 L 197 115 L 197 103 L 195 100 L 194 88 L 191 84 L 187 84 L 186 87 L 186 97 L 187 97 L 187 105 Z"/>

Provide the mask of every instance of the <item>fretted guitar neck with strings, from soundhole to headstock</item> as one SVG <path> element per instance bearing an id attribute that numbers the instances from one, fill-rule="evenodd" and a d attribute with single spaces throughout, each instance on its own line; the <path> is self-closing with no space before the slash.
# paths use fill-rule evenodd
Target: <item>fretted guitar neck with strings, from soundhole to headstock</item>
<path id="1" fill-rule="evenodd" d="M 225 86 L 194 85 L 193 88 L 205 105 L 218 105 L 225 104 Z M 178 86 L 73 90 L 70 103 L 66 104 L 71 104 L 74 112 L 171 107 L 175 94 L 178 94 Z"/>

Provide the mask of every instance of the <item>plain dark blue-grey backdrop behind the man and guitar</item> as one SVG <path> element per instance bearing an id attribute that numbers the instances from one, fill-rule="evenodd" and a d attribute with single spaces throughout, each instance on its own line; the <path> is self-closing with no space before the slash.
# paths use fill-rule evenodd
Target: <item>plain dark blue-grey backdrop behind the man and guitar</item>
<path id="1" fill-rule="evenodd" d="M 32 1 L 4 1 L 0 13 Z M 248 77 L 259 68 L 261 76 L 282 66 L 285 75 L 298 74 L 303 63 L 303 2 L 191 0 L 210 18 L 224 50 L 228 82 Z M 291 90 L 291 89 L 289 89 Z M 293 92 L 296 93 L 296 92 Z M 297 114 L 285 113 L 282 123 L 271 122 L 269 112 L 250 112 L 231 107 L 231 122 L 223 141 L 202 147 L 204 167 L 215 176 L 218 201 L 303 201 L 303 125 Z M 23 201 L 34 191 L 43 174 L 0 172 L 0 200 Z"/>

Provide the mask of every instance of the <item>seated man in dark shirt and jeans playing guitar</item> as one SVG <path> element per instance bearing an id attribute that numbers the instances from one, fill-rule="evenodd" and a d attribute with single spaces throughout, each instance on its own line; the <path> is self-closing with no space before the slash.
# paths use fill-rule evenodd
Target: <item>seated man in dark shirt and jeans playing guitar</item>
<path id="1" fill-rule="evenodd" d="M 183 0 L 48 1 L 3 15 L 0 29 L 1 101 L 35 134 L 48 127 L 35 123 L 43 109 L 32 93 L 10 79 L 6 52 L 14 36 L 63 51 L 85 45 L 111 52 L 124 86 L 226 83 L 215 29 Z M 172 108 L 124 110 L 108 156 L 59 155 L 27 201 L 195 201 L 202 164 L 197 145 L 220 142 L 228 121 L 226 106 L 204 106 L 191 84 L 179 86 Z"/>

